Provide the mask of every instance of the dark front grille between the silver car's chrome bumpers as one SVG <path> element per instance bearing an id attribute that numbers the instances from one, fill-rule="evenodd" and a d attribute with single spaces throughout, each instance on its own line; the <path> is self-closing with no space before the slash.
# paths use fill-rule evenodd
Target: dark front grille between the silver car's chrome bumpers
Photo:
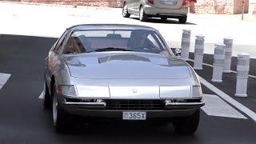
<path id="1" fill-rule="evenodd" d="M 162 110 L 161 100 L 106 100 L 107 110 Z"/>

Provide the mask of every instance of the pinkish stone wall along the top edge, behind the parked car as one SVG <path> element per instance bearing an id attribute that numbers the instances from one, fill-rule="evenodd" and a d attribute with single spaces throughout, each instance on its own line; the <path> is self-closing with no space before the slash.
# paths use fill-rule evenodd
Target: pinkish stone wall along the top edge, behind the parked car
<path id="1" fill-rule="evenodd" d="M 62 4 L 73 6 L 122 7 L 124 0 L 0 0 L 14 2 L 33 2 Z M 242 1 L 245 1 L 245 13 L 256 14 L 256 0 L 198 0 L 195 10 L 198 14 L 241 14 Z"/>

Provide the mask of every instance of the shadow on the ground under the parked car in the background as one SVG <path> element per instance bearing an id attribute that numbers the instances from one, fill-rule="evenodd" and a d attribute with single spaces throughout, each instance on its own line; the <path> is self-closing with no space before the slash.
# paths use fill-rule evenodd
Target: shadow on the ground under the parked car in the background
<path id="1" fill-rule="evenodd" d="M 135 20 L 139 20 L 138 18 L 133 18 Z M 186 22 L 185 24 L 179 23 L 178 19 L 172 19 L 168 18 L 166 20 L 162 20 L 161 18 L 148 18 L 146 22 L 151 22 L 151 23 L 166 23 L 166 24 L 179 24 L 179 25 L 197 25 L 195 23 L 191 22 Z"/>

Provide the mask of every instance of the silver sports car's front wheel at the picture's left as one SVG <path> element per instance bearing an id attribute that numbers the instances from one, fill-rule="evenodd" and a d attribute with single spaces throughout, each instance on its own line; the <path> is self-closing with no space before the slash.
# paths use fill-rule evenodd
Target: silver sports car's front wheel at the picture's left
<path id="1" fill-rule="evenodd" d="M 60 106 L 58 102 L 58 94 L 55 88 L 55 85 L 53 86 L 53 122 L 54 122 L 54 129 L 58 133 L 64 133 L 70 128 L 70 122 L 68 114 L 63 110 L 62 106 Z"/>

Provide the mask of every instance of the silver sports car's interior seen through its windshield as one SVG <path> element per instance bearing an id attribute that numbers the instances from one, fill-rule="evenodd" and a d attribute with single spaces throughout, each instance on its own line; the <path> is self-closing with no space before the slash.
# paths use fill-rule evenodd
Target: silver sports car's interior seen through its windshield
<path id="1" fill-rule="evenodd" d="M 162 51 L 161 44 L 155 39 L 154 34 L 136 30 L 130 33 L 130 38 L 123 38 L 122 34 L 107 34 L 106 37 L 79 35 L 68 39 L 63 54 L 80 54 L 106 47 L 160 53 Z"/>

